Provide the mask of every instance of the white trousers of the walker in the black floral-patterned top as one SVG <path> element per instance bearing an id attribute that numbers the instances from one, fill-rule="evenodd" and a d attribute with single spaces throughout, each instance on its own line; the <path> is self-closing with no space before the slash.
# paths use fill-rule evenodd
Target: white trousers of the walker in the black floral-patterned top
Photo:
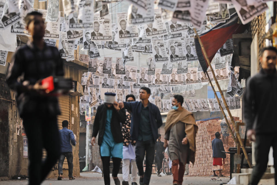
<path id="1" fill-rule="evenodd" d="M 135 159 L 122 159 L 122 178 L 123 181 L 129 181 L 129 166 L 130 166 L 130 161 L 132 165 L 132 176 L 131 176 L 131 181 L 136 182 L 136 177 L 138 176 L 138 168 L 136 167 L 136 160 Z"/>

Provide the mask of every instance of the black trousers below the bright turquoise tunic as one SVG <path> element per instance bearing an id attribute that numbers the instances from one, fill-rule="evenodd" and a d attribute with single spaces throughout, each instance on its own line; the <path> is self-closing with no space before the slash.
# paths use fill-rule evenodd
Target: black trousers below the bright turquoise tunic
<path id="1" fill-rule="evenodd" d="M 109 157 L 109 156 L 102 157 L 101 156 L 101 159 L 102 159 L 102 165 L 103 165 L 104 183 L 105 183 L 105 185 L 110 185 L 111 184 L 111 180 L 110 180 L 110 159 L 111 159 L 111 157 Z M 112 159 L 113 159 L 112 176 L 117 177 L 117 174 L 120 169 L 121 158 L 113 157 Z"/>

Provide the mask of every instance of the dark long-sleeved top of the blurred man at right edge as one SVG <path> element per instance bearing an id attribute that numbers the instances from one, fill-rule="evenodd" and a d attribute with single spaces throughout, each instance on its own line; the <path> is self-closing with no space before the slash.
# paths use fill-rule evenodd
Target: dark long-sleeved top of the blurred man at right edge
<path id="1" fill-rule="evenodd" d="M 247 80 L 243 97 L 243 115 L 247 129 L 257 134 L 276 133 L 277 73 L 263 69 Z"/>

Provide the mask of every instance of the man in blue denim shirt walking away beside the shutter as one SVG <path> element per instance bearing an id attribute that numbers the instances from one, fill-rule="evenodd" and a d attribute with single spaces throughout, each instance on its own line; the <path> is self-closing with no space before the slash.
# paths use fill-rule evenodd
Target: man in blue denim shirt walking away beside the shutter
<path id="1" fill-rule="evenodd" d="M 76 140 L 73 134 L 73 131 L 68 129 L 68 121 L 64 120 L 62 122 L 63 128 L 59 130 L 60 138 L 61 138 L 61 156 L 59 158 L 58 170 L 59 177 L 58 180 L 61 180 L 63 174 L 63 161 L 66 157 L 68 162 L 68 177 L 69 180 L 74 180 L 75 178 L 72 175 L 73 171 L 73 154 L 72 154 L 72 146 L 76 145 Z M 71 143 L 70 143 L 71 141 Z"/>

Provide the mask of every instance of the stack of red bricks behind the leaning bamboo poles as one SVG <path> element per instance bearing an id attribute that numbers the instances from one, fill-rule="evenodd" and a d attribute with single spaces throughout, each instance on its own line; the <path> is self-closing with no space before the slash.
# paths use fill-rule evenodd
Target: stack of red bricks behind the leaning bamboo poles
<path id="1" fill-rule="evenodd" d="M 234 118 L 238 120 L 238 118 Z M 208 121 L 197 121 L 198 132 L 196 134 L 196 154 L 194 165 L 190 164 L 189 175 L 208 176 L 212 175 L 212 163 L 213 163 L 213 151 L 212 140 L 215 138 L 215 133 L 220 132 L 219 119 L 213 119 Z M 233 129 L 233 126 L 231 129 Z M 235 142 L 230 134 L 229 142 L 224 144 L 225 151 L 228 151 L 229 147 L 235 147 Z M 230 155 L 226 155 L 223 175 L 229 176 L 230 174 Z"/>

